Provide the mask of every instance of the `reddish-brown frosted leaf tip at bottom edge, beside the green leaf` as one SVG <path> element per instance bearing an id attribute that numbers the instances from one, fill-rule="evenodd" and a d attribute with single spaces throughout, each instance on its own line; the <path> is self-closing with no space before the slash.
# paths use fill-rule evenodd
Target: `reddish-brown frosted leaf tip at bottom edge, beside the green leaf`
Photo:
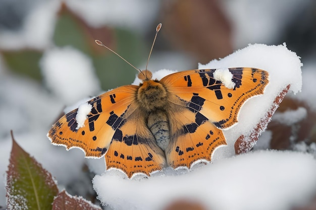
<path id="1" fill-rule="evenodd" d="M 102 210 L 82 197 L 71 196 L 65 190 L 61 191 L 54 199 L 52 210 Z"/>

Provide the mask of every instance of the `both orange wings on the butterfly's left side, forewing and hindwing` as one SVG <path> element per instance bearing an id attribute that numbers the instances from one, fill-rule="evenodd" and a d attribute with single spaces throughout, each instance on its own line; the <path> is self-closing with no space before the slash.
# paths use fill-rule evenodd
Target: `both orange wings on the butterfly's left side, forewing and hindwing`
<path id="1" fill-rule="evenodd" d="M 155 145 L 147 127 L 135 120 L 135 116 L 145 117 L 135 102 L 138 88 L 123 86 L 88 101 L 92 109 L 83 127 L 76 129 L 78 109 L 75 109 L 53 125 L 48 138 L 52 144 L 65 146 L 67 150 L 80 148 L 86 157 L 100 158 L 109 154 L 106 155 L 107 169 L 121 169 L 128 177 L 136 172 L 148 175 L 161 170 L 165 164 L 163 151 Z M 138 157 L 144 160 L 139 161 Z"/>

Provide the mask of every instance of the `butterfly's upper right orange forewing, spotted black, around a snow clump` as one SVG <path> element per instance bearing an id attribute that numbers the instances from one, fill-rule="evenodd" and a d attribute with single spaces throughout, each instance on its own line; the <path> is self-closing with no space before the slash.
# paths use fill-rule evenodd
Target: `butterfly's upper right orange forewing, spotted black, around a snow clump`
<path id="1" fill-rule="evenodd" d="M 226 88 L 214 79 L 216 69 L 196 69 L 174 73 L 160 82 L 166 89 L 189 102 L 188 107 L 199 111 L 221 129 L 237 122 L 244 102 L 264 93 L 269 74 L 257 68 L 229 68 L 234 88 Z"/>

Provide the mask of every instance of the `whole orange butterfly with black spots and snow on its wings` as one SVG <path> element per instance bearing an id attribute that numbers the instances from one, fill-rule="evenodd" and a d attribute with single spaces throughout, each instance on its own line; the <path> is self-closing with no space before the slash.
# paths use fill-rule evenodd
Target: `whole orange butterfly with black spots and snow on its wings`
<path id="1" fill-rule="evenodd" d="M 146 67 L 138 78 L 139 86 L 113 89 L 65 114 L 47 133 L 51 143 L 104 156 L 107 170 L 129 178 L 167 166 L 191 168 L 227 145 L 222 130 L 269 83 L 268 72 L 251 67 L 195 69 L 161 80 Z"/>

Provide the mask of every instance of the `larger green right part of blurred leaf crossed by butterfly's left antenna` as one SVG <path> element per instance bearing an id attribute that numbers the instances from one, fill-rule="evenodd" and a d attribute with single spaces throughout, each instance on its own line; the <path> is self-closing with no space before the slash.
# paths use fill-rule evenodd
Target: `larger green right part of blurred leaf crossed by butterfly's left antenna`
<path id="1" fill-rule="evenodd" d="M 115 43 L 112 49 L 131 64 L 137 67 L 141 60 L 146 60 L 150 48 L 144 50 L 145 45 L 137 35 L 128 30 L 115 29 L 113 36 Z M 103 90 L 131 84 L 137 75 L 133 67 L 109 50 L 93 55 L 92 60 Z"/>

